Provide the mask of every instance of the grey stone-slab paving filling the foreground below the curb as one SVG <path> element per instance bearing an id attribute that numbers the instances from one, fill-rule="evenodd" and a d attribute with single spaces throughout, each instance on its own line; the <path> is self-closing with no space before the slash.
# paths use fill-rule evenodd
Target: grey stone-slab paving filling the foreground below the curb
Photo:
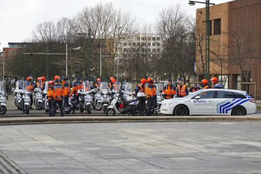
<path id="1" fill-rule="evenodd" d="M 0 173 L 261 173 L 260 122 L 0 127 Z"/>

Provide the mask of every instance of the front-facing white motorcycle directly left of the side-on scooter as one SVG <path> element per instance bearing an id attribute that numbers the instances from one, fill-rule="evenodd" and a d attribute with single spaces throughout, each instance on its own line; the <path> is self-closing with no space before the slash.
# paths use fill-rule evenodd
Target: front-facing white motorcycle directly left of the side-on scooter
<path id="1" fill-rule="evenodd" d="M 104 113 L 106 112 L 107 107 L 110 105 L 110 95 L 109 95 L 110 87 L 106 82 L 100 83 L 100 95 L 101 95 L 101 105 Z"/>

